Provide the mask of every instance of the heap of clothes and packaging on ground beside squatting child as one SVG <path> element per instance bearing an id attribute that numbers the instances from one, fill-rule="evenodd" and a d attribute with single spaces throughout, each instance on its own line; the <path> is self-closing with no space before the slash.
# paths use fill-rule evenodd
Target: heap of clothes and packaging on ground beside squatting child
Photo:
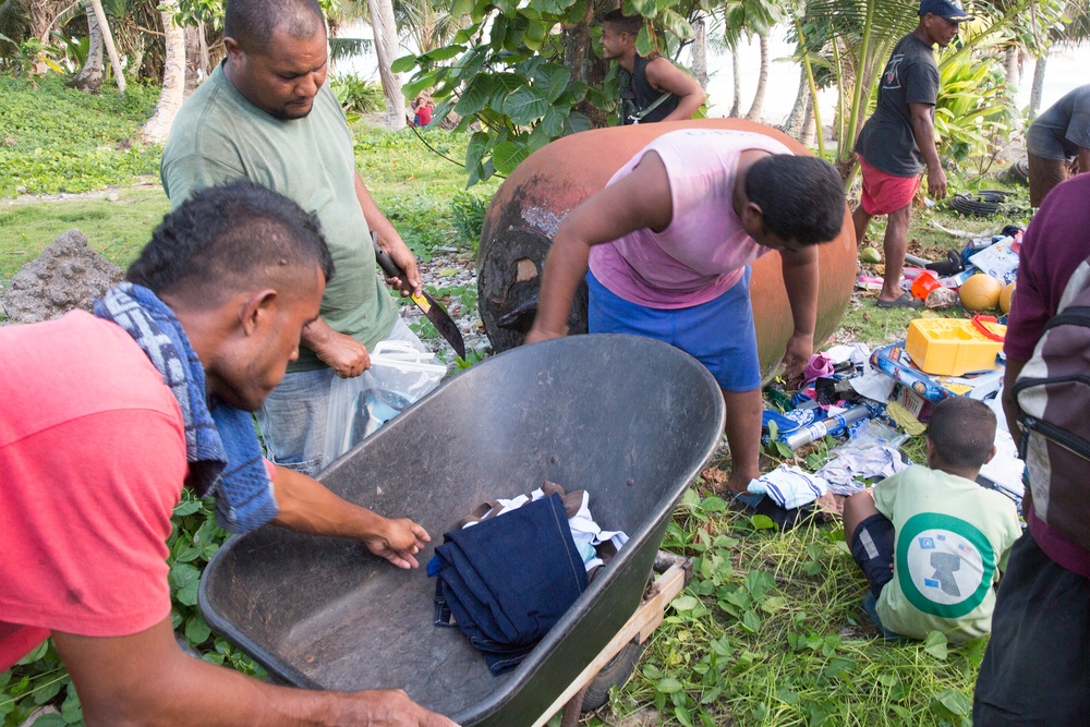
<path id="1" fill-rule="evenodd" d="M 826 435 L 843 438 L 814 472 L 783 464 L 753 480 L 738 500 L 766 514 L 782 529 L 813 512 L 837 513 L 844 498 L 907 468 L 899 447 L 924 432 L 933 404 L 950 396 L 968 396 L 995 412 L 996 456 L 978 482 L 1020 505 L 1024 463 L 1006 431 L 1000 405 L 1002 355 L 995 368 L 935 376 L 921 371 L 897 341 L 871 351 L 855 343 L 835 346 L 811 358 L 800 389 L 792 395 L 765 388 L 783 411 L 764 412 L 764 443 L 798 450 Z"/>

